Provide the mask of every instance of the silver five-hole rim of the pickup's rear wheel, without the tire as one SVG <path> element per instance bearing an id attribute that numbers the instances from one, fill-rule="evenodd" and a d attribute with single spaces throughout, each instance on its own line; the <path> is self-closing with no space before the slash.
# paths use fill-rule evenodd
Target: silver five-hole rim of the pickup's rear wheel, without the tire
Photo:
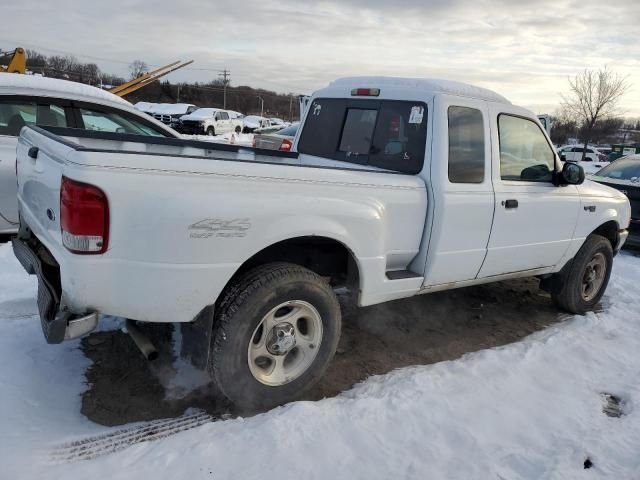
<path id="1" fill-rule="evenodd" d="M 253 377 L 276 387 L 299 378 L 311 366 L 322 342 L 322 319 L 308 302 L 292 300 L 267 313 L 249 340 Z"/>

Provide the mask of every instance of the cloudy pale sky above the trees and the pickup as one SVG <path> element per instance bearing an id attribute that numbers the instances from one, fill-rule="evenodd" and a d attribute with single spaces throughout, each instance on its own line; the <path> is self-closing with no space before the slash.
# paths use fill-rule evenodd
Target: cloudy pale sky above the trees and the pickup
<path id="1" fill-rule="evenodd" d="M 0 0 L 0 48 L 69 53 L 128 75 L 195 60 L 170 81 L 311 93 L 351 75 L 444 78 L 553 113 L 568 77 L 627 75 L 640 117 L 640 0 Z"/>

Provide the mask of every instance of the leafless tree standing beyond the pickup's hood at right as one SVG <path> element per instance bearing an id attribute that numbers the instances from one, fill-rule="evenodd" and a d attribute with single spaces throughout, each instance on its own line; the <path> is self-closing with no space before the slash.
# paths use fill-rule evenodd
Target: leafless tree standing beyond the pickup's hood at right
<path id="1" fill-rule="evenodd" d="M 562 95 L 563 107 L 573 114 L 584 132 L 584 160 L 596 124 L 619 115 L 618 102 L 629 89 L 626 77 L 606 69 L 585 70 L 569 79 L 570 93 Z"/>

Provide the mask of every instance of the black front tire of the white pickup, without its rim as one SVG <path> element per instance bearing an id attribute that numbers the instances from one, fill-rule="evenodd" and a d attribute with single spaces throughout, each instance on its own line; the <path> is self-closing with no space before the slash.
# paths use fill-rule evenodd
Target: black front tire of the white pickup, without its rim
<path id="1" fill-rule="evenodd" d="M 600 257 L 601 256 L 601 257 Z M 589 263 L 596 257 L 604 259 L 606 270 L 601 285 L 589 298 L 583 295 L 583 282 Z M 600 235 L 589 235 L 576 256 L 551 282 L 551 298 L 555 304 L 570 313 L 584 314 L 593 309 L 604 295 L 613 266 L 611 242 Z"/>

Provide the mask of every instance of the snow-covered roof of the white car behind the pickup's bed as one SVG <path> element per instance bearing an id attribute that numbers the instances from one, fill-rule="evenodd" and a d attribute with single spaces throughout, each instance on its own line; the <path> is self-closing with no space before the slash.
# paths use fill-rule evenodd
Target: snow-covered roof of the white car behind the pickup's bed
<path id="1" fill-rule="evenodd" d="M 0 95 L 86 99 L 91 102 L 97 101 L 98 103 L 112 103 L 131 107 L 131 103 L 100 88 L 39 75 L 21 75 L 17 73 L 0 75 Z"/>

